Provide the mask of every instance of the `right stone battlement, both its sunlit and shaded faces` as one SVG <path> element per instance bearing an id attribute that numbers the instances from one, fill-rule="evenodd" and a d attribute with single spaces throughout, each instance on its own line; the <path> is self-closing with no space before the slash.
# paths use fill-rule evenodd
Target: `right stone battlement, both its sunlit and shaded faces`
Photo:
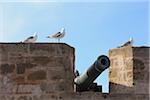
<path id="1" fill-rule="evenodd" d="M 128 46 L 110 50 L 109 78 L 111 94 L 131 93 L 136 96 L 136 94 L 149 93 L 148 54 L 148 47 Z"/>

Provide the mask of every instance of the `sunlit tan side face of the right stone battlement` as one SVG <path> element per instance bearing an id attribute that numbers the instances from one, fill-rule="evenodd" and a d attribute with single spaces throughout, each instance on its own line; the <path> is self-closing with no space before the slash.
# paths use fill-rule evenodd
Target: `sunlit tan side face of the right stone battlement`
<path id="1" fill-rule="evenodd" d="M 109 80 L 111 83 L 129 87 L 133 86 L 132 55 L 133 54 L 131 46 L 112 49 L 109 51 L 109 57 L 111 60 L 111 65 L 109 68 L 110 69 Z"/>

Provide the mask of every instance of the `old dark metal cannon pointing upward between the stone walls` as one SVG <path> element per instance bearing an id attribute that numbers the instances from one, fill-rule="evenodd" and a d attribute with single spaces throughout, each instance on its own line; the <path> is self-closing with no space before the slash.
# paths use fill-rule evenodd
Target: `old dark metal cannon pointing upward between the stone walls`
<path id="1" fill-rule="evenodd" d="M 93 81 L 109 66 L 109 58 L 105 55 L 99 56 L 84 74 L 79 75 L 74 79 L 77 91 L 88 91 L 93 87 Z"/>

